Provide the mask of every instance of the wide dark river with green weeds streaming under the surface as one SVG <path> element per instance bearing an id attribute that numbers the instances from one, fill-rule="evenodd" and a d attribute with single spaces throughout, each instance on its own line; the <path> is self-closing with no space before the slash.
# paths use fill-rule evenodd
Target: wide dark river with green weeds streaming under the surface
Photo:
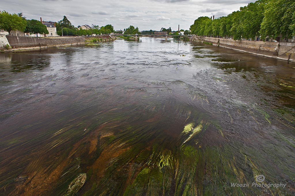
<path id="1" fill-rule="evenodd" d="M 145 37 L 0 54 L 0 195 L 294 195 L 294 71 Z"/>

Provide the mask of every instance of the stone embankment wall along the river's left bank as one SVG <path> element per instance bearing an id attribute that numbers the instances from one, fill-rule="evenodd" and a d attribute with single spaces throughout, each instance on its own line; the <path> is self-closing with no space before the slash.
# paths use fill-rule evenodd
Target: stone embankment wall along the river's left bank
<path id="1" fill-rule="evenodd" d="M 38 38 L 24 36 L 1 35 L 2 51 L 20 51 L 28 49 L 48 48 L 54 46 L 78 45 L 88 42 L 112 41 L 108 35 L 71 38 Z M 8 47 L 9 46 L 9 47 Z"/>

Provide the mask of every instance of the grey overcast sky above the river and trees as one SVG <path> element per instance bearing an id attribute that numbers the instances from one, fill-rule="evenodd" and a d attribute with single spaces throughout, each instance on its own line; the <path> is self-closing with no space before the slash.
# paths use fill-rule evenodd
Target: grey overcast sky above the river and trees
<path id="1" fill-rule="evenodd" d="M 254 0 L 255 1 L 255 0 Z M 139 30 L 189 29 L 199 16 L 227 16 L 251 0 L 1 0 L 0 10 L 22 12 L 27 19 L 60 21 L 74 26 L 112 24 L 115 30 L 138 26 Z"/>

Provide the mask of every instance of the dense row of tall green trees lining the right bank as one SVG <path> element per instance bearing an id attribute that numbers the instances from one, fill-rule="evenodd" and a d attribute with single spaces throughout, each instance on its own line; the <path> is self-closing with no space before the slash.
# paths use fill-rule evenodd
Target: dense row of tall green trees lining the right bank
<path id="1" fill-rule="evenodd" d="M 190 30 L 199 36 L 255 38 L 283 38 L 295 36 L 295 1 L 258 0 L 227 16 L 211 20 L 199 17 Z"/>

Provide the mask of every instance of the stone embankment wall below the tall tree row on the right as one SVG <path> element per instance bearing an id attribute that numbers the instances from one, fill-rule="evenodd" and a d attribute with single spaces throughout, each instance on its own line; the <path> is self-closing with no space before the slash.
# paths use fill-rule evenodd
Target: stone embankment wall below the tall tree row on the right
<path id="1" fill-rule="evenodd" d="M 232 40 L 200 36 L 194 36 L 193 41 L 209 42 L 215 46 L 295 62 L 295 43 L 293 42 Z"/>

